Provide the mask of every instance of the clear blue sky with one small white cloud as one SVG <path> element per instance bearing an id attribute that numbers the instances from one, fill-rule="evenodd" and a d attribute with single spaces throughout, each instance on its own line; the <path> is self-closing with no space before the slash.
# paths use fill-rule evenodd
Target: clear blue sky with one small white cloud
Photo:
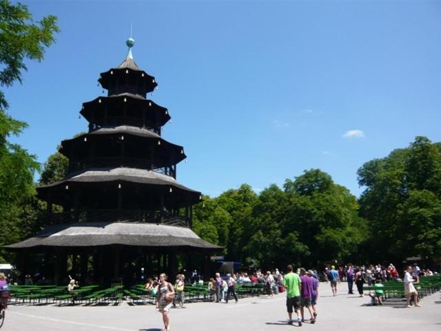
<path id="1" fill-rule="evenodd" d="M 440 1 L 21 1 L 61 33 L 6 90 L 14 141 L 40 162 L 87 130 L 81 103 L 127 54 L 156 77 L 163 137 L 185 147 L 178 181 L 216 196 L 258 192 L 309 168 L 359 195 L 356 171 L 441 141 Z"/>

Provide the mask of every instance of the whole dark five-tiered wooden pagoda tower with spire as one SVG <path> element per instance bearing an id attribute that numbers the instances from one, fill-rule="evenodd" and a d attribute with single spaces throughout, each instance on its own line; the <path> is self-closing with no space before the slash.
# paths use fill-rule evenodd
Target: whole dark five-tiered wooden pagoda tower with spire
<path id="1" fill-rule="evenodd" d="M 83 103 L 88 132 L 61 142 L 68 175 L 37 188 L 51 225 L 6 246 L 20 252 L 23 274 L 26 260 L 37 253 L 45 254 L 45 274 L 54 283 L 67 277 L 68 257 L 81 280 L 110 283 L 141 267 L 146 276 L 174 274 L 176 254 L 198 253 L 207 261 L 222 249 L 192 232 L 192 205 L 201 193 L 176 181 L 183 147 L 161 137 L 170 114 L 147 99 L 158 84 L 134 62 L 134 40 L 126 44 L 121 65 L 100 74 L 107 97 Z"/>

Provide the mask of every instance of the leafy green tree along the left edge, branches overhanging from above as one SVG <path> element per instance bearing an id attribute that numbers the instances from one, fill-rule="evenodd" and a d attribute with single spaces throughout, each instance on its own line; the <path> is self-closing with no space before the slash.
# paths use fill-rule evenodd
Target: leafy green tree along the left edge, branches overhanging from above
<path id="1" fill-rule="evenodd" d="M 0 86 L 7 88 L 15 81 L 21 83 L 25 59 L 41 61 L 45 47 L 54 42 L 59 29 L 56 17 L 50 15 L 34 23 L 32 14 L 21 3 L 0 0 Z M 0 90 L 0 246 L 21 239 L 23 205 L 34 195 L 32 179 L 39 170 L 36 157 L 17 144 L 10 143 L 10 135 L 19 135 L 27 124 L 12 119 L 6 110 L 8 102 Z M 0 251 L 0 261 L 10 254 Z"/>

